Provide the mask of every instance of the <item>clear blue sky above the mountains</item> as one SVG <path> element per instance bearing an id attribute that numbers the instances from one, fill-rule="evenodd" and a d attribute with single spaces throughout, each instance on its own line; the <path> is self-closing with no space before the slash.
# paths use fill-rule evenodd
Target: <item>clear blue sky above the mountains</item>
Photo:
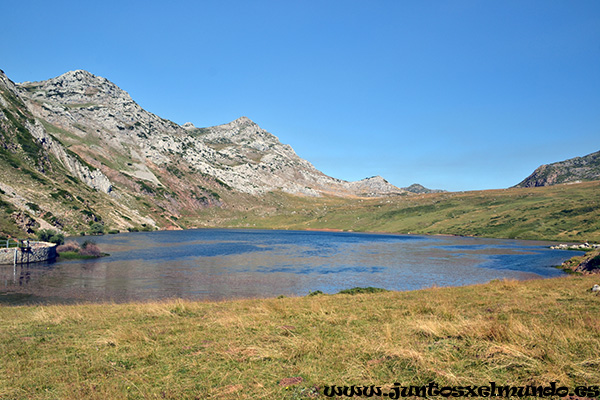
<path id="1" fill-rule="evenodd" d="M 600 150 L 600 1 L 2 1 L 13 81 L 85 69 L 179 124 L 245 115 L 328 175 L 512 186 Z"/>

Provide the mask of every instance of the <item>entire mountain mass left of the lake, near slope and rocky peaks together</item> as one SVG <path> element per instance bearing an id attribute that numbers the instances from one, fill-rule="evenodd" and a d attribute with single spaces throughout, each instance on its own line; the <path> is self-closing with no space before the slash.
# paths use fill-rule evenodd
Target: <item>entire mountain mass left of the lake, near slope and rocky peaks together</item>
<path id="1" fill-rule="evenodd" d="M 0 177 L 4 235 L 40 228 L 86 232 L 93 224 L 177 229 L 216 223 L 213 209 L 276 210 L 292 201 L 267 203 L 271 193 L 408 193 L 381 177 L 330 177 L 247 117 L 207 128 L 180 126 L 82 70 L 20 84 L 0 72 L 0 135 L 0 168 L 8 171 Z"/>

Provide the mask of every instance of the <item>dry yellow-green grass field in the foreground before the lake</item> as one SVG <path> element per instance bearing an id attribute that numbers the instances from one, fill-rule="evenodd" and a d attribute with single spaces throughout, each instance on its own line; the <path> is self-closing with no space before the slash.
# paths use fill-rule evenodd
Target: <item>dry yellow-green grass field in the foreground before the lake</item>
<path id="1" fill-rule="evenodd" d="M 597 385 L 600 297 L 586 291 L 596 282 L 0 306 L 0 398 L 298 399 L 315 386 L 430 380 Z M 302 382 L 279 384 L 292 377 Z"/>

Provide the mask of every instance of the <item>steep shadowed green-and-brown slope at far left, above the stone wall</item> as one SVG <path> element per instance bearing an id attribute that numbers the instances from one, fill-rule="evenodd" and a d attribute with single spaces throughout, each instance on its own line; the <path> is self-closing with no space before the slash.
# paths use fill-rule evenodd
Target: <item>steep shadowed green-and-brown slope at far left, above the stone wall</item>
<path id="1" fill-rule="evenodd" d="M 0 236 L 40 228 L 81 232 L 101 223 L 102 215 L 113 224 L 111 214 L 151 222 L 122 206 L 101 171 L 46 131 L 2 71 L 0 169 Z"/>

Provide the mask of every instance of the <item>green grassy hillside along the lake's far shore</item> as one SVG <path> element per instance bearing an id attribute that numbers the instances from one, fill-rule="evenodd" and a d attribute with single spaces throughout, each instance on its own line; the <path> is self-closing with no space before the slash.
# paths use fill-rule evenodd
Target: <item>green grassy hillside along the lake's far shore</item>
<path id="1" fill-rule="evenodd" d="M 190 225 L 600 242 L 600 181 L 383 199 L 271 194 L 247 211 L 211 212 Z"/>

